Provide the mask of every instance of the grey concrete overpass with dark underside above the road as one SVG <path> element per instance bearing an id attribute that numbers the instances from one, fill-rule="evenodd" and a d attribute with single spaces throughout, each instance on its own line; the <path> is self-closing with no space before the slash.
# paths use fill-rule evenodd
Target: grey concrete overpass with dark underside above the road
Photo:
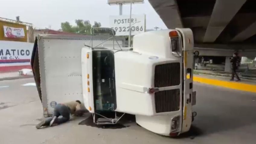
<path id="1" fill-rule="evenodd" d="M 165 25 L 191 28 L 205 56 L 256 56 L 255 0 L 149 0 Z"/>

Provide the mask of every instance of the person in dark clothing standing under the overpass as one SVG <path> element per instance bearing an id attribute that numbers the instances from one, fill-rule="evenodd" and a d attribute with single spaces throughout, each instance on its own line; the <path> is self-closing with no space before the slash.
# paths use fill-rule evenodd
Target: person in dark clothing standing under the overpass
<path id="1" fill-rule="evenodd" d="M 238 53 L 235 52 L 233 54 L 233 57 L 230 59 L 230 62 L 232 64 L 232 77 L 231 77 L 231 81 L 234 80 L 234 77 L 237 78 L 237 81 L 241 81 L 241 79 L 238 77 L 236 70 L 238 69 L 238 67 L 240 66 L 240 57 L 238 56 Z"/>

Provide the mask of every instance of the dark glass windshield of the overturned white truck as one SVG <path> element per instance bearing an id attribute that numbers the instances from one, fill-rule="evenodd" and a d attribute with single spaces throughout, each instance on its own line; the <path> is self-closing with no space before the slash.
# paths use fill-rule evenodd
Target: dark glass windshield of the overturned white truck
<path id="1" fill-rule="evenodd" d="M 95 112 L 114 111 L 116 109 L 114 52 L 93 50 L 92 59 Z"/>

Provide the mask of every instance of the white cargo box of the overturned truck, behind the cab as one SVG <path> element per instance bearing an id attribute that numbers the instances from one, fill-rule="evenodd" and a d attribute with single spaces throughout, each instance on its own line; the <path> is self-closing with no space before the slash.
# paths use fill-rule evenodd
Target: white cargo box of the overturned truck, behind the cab
<path id="1" fill-rule="evenodd" d="M 37 36 L 31 65 L 32 68 L 34 67 L 34 77 L 43 104 L 44 116 L 53 114 L 57 102 L 83 101 L 82 47 L 85 45 L 96 46 L 109 38 L 110 36 L 94 36 L 92 38 L 88 35 L 52 34 Z M 116 40 L 114 47 L 117 47 L 117 42 L 120 45 L 125 42 L 122 37 L 116 37 Z M 113 40 L 107 40 L 103 43 L 103 46 L 106 45 L 113 46 Z"/>

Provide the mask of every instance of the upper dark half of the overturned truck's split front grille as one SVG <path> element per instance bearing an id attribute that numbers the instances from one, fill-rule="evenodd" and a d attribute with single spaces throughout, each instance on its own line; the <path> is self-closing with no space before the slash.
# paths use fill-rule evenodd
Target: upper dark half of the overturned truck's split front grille
<path id="1" fill-rule="evenodd" d="M 166 63 L 155 66 L 154 87 L 168 87 L 180 84 L 180 63 Z"/>

